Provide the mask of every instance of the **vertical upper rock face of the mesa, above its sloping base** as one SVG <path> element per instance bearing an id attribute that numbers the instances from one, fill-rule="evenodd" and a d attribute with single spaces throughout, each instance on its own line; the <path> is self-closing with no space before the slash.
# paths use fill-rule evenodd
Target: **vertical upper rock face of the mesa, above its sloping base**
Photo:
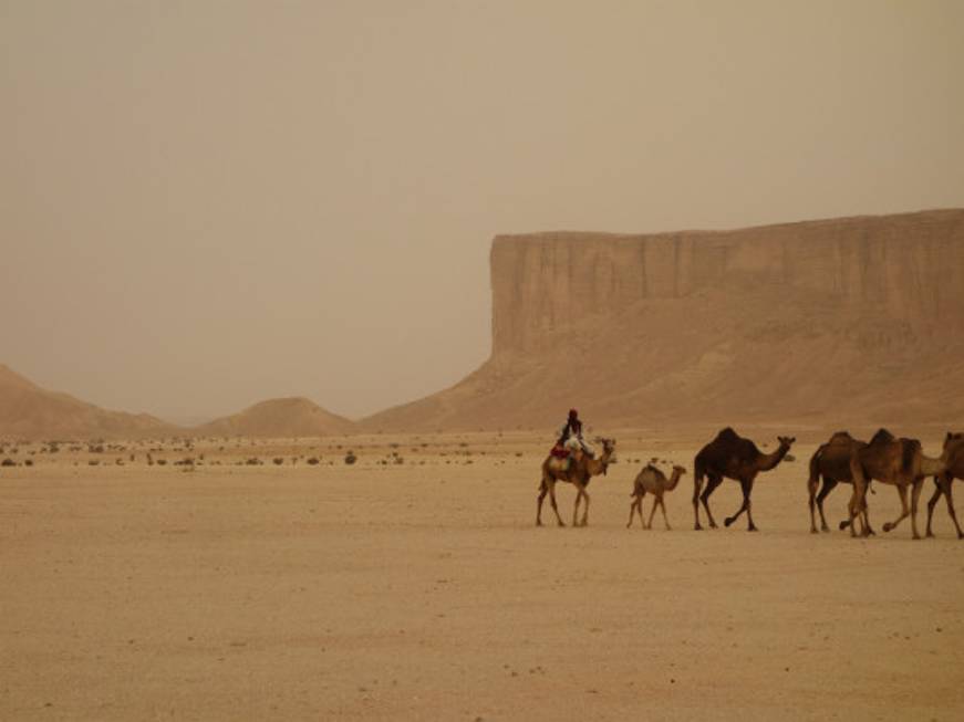
<path id="1" fill-rule="evenodd" d="M 794 290 L 903 321 L 964 317 L 964 210 L 640 236 L 499 236 L 491 250 L 493 355 L 646 300 Z"/>

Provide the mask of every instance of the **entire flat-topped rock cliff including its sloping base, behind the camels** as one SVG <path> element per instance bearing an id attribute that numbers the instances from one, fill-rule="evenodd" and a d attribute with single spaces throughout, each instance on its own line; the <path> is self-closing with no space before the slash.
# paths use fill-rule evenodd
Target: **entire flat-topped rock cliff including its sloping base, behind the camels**
<path id="1" fill-rule="evenodd" d="M 964 210 L 499 236 L 493 354 L 371 429 L 964 419 Z"/>

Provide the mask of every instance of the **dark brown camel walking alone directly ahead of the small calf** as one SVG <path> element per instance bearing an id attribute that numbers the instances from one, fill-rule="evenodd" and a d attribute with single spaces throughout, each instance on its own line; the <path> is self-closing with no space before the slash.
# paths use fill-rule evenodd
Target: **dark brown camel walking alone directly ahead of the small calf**
<path id="1" fill-rule="evenodd" d="M 777 439 L 780 442 L 779 448 L 773 453 L 763 453 L 753 441 L 744 439 L 736 431 L 727 427 L 717 433 L 713 441 L 699 450 L 693 462 L 693 513 L 696 516 L 695 529 L 697 531 L 703 529 L 699 525 L 701 501 L 706 510 L 706 516 L 709 517 L 709 526 L 716 529 L 716 521 L 713 519 L 713 513 L 709 511 L 707 502 L 709 494 L 723 483 L 724 479 L 733 479 L 739 482 L 743 489 L 743 505 L 740 505 L 736 514 L 727 516 L 723 523 L 729 526 L 739 519 L 740 514 L 746 512 L 746 517 L 749 522 L 747 531 L 757 531 L 756 524 L 753 523 L 749 500 L 754 480 L 759 472 L 769 471 L 780 463 L 790 450 L 790 446 L 796 441 L 791 437 L 777 437 Z M 706 491 L 701 494 L 699 490 L 703 488 L 704 477 L 707 479 Z"/>

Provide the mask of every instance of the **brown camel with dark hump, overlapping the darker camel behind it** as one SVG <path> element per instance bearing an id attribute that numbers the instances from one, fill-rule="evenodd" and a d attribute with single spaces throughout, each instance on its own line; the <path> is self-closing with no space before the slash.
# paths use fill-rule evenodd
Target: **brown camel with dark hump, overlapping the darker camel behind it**
<path id="1" fill-rule="evenodd" d="M 896 486 L 901 499 L 901 515 L 883 525 L 883 531 L 896 529 L 908 516 L 911 517 L 913 538 L 918 533 L 918 500 L 924 485 L 924 477 L 943 474 L 946 464 L 942 459 L 925 457 L 921 442 L 916 439 L 895 439 L 887 429 L 880 429 L 870 443 L 854 447 L 850 453 L 850 473 L 853 478 L 853 494 L 850 498 L 850 535 L 857 536 L 853 523 L 867 503 L 867 485 L 875 479 Z M 911 508 L 908 510 L 908 489 L 911 489 Z M 862 534 L 869 533 L 867 527 Z"/>

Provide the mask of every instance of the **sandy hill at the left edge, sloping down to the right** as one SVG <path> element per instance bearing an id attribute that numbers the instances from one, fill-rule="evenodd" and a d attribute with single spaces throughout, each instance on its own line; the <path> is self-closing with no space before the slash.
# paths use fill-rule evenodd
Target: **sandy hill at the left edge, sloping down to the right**
<path id="1" fill-rule="evenodd" d="M 147 414 L 108 411 L 49 391 L 0 365 L 0 437 L 97 439 L 175 436 L 183 429 Z"/>

